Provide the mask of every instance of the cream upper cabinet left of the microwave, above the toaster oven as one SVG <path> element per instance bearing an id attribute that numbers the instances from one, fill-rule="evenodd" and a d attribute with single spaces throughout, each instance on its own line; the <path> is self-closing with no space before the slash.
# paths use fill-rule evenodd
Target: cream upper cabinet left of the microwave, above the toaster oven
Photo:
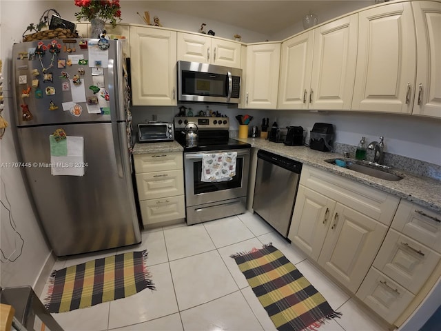
<path id="1" fill-rule="evenodd" d="M 132 103 L 176 106 L 176 32 L 130 27 Z"/>

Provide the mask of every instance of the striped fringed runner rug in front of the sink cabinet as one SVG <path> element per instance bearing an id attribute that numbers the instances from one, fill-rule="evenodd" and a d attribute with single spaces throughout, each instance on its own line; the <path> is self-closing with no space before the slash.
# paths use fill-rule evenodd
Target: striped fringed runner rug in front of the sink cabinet
<path id="1" fill-rule="evenodd" d="M 271 243 L 231 256 L 279 331 L 315 330 L 340 317 Z"/>

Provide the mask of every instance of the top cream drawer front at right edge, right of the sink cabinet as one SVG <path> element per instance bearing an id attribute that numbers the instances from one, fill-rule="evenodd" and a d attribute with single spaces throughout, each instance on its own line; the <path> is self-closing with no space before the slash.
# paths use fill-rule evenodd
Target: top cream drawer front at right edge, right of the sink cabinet
<path id="1" fill-rule="evenodd" d="M 402 200 L 391 227 L 441 253 L 441 215 Z"/>

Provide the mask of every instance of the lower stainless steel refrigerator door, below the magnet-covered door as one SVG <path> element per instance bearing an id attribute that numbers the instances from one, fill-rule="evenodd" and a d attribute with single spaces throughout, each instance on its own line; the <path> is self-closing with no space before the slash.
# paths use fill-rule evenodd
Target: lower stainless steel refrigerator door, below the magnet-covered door
<path id="1" fill-rule="evenodd" d="M 46 166 L 49 135 L 57 128 L 83 137 L 83 177 L 52 176 Z M 37 212 L 57 256 L 141 242 L 124 122 L 17 131 L 23 162 L 30 164 L 25 172 Z"/>

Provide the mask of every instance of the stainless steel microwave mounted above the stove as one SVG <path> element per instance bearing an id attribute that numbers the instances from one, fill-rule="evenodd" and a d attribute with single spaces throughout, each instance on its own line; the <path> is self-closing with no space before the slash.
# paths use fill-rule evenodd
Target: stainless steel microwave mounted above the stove
<path id="1" fill-rule="evenodd" d="M 242 69 L 178 61 L 178 101 L 240 103 Z"/>

